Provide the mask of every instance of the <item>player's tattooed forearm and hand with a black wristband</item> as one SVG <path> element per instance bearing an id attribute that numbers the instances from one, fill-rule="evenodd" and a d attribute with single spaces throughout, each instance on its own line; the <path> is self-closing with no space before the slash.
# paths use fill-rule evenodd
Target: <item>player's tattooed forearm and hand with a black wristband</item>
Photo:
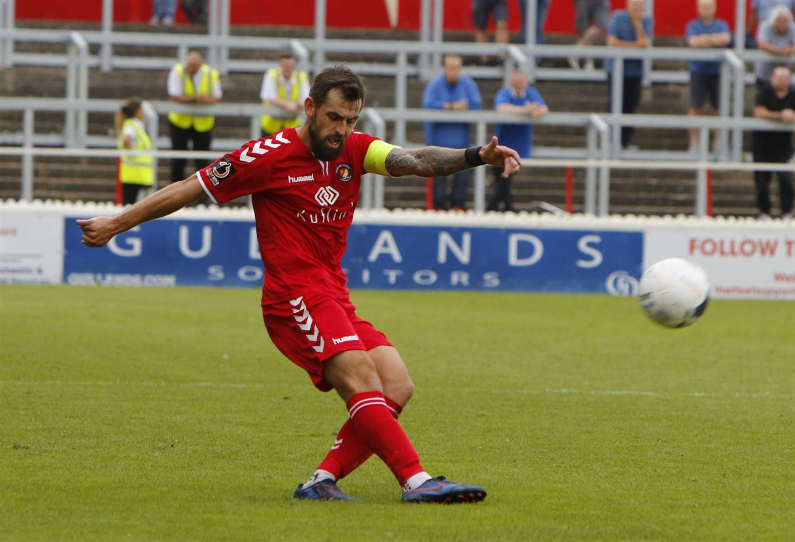
<path id="1" fill-rule="evenodd" d="M 467 149 L 432 146 L 421 149 L 396 147 L 386 155 L 386 171 L 394 177 L 405 175 L 438 177 L 488 164 L 504 168 L 503 177 L 518 172 L 519 166 L 522 165 L 519 154 L 514 149 L 497 143 L 497 137 L 492 137 L 491 142 L 481 147 L 475 156 L 470 156 L 469 161 L 467 161 Z"/>

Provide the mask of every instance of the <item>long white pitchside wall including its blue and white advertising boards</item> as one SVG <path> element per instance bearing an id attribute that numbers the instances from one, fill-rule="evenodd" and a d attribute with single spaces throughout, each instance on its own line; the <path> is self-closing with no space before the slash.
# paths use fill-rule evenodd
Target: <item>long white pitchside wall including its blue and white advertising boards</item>
<path id="1" fill-rule="evenodd" d="M 80 244 L 75 219 L 119 210 L 0 203 L 0 283 L 262 284 L 250 210 L 184 209 L 102 249 Z M 352 288 L 630 296 L 643 269 L 673 256 L 704 267 L 716 298 L 795 300 L 795 223 L 752 219 L 360 210 L 343 269 Z"/>

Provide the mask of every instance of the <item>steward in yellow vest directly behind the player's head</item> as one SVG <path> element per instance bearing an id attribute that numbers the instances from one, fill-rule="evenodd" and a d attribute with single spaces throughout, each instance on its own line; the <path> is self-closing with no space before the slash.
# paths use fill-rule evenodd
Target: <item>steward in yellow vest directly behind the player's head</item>
<path id="1" fill-rule="evenodd" d="M 309 77 L 296 69 L 295 56 L 285 53 L 279 57 L 279 67 L 270 68 L 262 76 L 259 98 L 262 105 L 272 105 L 284 110 L 287 118 L 262 116 L 262 137 L 268 137 L 301 125 L 299 114 L 304 110 L 304 100 L 309 96 Z"/>

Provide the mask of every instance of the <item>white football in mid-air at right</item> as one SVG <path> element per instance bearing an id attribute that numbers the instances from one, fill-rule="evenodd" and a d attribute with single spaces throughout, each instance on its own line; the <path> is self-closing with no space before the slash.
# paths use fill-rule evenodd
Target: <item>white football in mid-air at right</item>
<path id="1" fill-rule="evenodd" d="M 682 257 L 657 261 L 641 277 L 638 288 L 643 312 L 665 327 L 686 327 L 707 309 L 709 277 Z"/>

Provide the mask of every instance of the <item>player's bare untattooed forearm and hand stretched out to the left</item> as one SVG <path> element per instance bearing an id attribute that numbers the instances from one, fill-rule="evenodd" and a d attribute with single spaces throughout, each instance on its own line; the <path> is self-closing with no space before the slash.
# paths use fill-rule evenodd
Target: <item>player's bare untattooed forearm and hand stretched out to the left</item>
<path id="1" fill-rule="evenodd" d="M 83 245 L 105 246 L 114 235 L 121 234 L 140 223 L 170 215 L 188 203 L 204 196 L 196 173 L 185 180 L 169 184 L 151 196 L 127 207 L 115 216 L 98 216 L 94 219 L 81 219 L 77 225 L 83 229 Z"/>

